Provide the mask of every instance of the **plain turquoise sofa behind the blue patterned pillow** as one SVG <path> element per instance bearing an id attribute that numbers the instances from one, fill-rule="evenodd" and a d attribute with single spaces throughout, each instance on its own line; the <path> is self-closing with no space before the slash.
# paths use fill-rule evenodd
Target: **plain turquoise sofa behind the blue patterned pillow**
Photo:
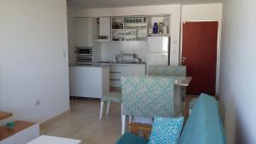
<path id="1" fill-rule="evenodd" d="M 143 137 L 125 133 L 116 144 L 147 144 Z M 188 121 L 184 124 L 178 144 L 225 144 L 224 126 L 218 111 L 218 101 L 201 94 Z"/>

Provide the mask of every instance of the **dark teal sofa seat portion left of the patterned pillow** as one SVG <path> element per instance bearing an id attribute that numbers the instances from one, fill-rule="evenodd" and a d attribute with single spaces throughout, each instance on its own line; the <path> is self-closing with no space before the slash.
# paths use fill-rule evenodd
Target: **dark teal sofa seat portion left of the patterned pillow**
<path id="1" fill-rule="evenodd" d="M 128 132 L 122 135 L 116 144 L 148 144 L 148 140 Z"/>

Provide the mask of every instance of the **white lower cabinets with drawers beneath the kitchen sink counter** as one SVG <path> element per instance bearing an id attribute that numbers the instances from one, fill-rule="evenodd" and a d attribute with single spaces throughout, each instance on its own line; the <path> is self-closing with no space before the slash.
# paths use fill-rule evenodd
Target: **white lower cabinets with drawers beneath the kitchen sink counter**
<path id="1" fill-rule="evenodd" d="M 121 77 L 143 76 L 145 74 L 145 65 L 112 65 L 109 67 L 109 84 L 111 87 L 121 87 Z"/>

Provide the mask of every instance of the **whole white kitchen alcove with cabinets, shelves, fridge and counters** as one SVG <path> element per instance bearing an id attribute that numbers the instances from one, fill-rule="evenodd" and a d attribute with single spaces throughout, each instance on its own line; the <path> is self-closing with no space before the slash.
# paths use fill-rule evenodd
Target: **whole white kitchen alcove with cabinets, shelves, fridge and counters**
<path id="1" fill-rule="evenodd" d="M 171 15 L 73 17 L 70 95 L 101 98 L 120 88 L 122 76 L 170 65 Z"/>

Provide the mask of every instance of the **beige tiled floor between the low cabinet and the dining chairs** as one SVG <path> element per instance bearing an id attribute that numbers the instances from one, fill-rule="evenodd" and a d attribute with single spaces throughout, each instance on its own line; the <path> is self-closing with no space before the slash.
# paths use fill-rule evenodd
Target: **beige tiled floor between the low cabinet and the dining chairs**
<path id="1" fill-rule="evenodd" d="M 104 111 L 101 121 L 99 111 L 99 100 L 72 100 L 71 111 L 44 125 L 41 133 L 79 139 L 82 144 L 114 144 L 121 133 L 120 104 L 111 103 L 108 116 Z"/>

